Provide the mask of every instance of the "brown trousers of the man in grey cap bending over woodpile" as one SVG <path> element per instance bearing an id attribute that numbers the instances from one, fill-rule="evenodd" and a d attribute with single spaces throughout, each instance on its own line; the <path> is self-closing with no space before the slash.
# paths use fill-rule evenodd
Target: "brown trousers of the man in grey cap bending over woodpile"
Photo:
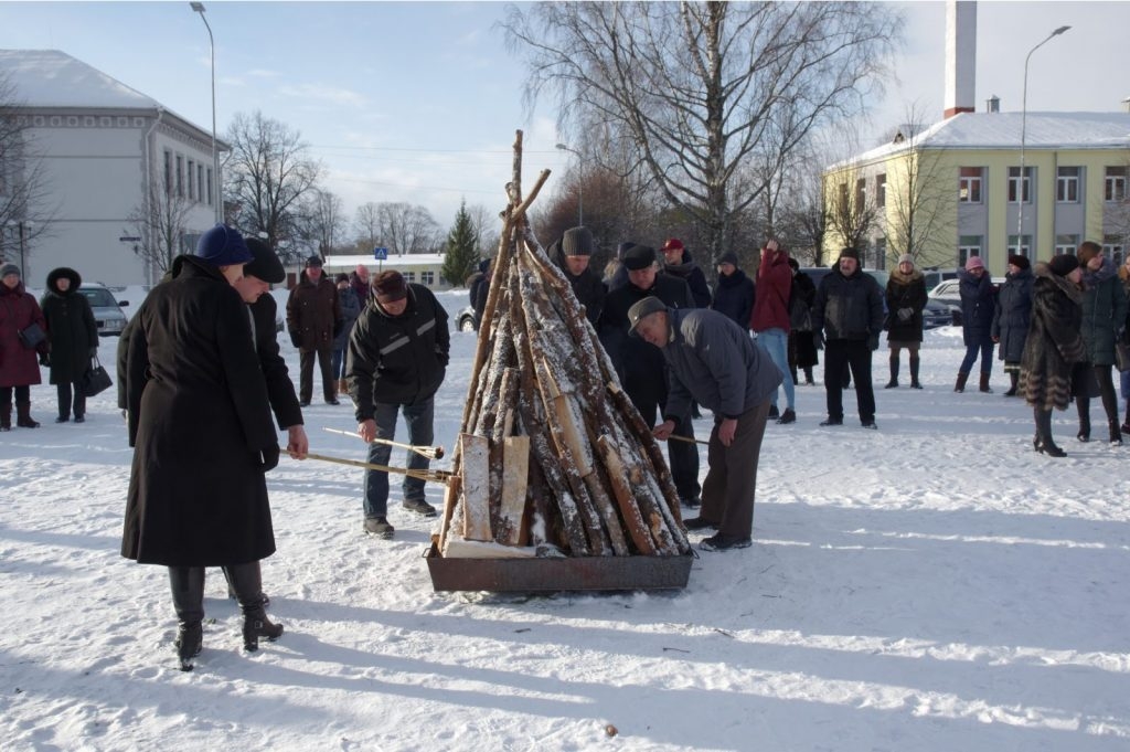
<path id="1" fill-rule="evenodd" d="M 762 453 L 770 400 L 738 416 L 738 429 L 729 447 L 718 438 L 719 423 L 710 434 L 706 459 L 710 469 L 703 482 L 699 516 L 718 524 L 725 536 L 749 537 L 754 530 L 754 500 L 757 492 L 757 459 Z"/>

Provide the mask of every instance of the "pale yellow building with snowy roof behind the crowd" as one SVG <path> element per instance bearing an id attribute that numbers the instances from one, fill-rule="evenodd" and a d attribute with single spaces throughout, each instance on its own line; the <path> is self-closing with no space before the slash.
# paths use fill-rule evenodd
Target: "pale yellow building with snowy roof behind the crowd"
<path id="1" fill-rule="evenodd" d="M 1029 112 L 1023 157 L 1022 120 L 959 113 L 828 167 L 827 252 L 854 241 L 880 269 L 903 253 L 940 268 L 980 256 L 1003 275 L 1010 254 L 1046 259 L 1092 240 L 1121 262 L 1130 113 Z"/>

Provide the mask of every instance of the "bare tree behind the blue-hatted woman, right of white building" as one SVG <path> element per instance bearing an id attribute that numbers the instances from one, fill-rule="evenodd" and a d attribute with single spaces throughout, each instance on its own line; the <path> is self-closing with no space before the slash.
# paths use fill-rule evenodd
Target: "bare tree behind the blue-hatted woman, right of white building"
<path id="1" fill-rule="evenodd" d="M 226 195 L 236 207 L 235 225 L 267 242 L 298 239 L 302 199 L 318 185 L 322 166 L 307 156 L 301 135 L 284 123 L 237 113 L 227 136 L 232 152 L 226 163 Z M 293 243 L 292 243 L 293 244 Z"/>

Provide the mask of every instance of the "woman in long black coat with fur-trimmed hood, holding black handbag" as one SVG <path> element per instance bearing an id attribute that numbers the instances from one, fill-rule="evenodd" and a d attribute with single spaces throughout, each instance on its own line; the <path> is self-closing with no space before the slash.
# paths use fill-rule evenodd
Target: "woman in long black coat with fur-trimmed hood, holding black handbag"
<path id="1" fill-rule="evenodd" d="M 66 423 L 75 413 L 75 422 L 86 420 L 86 395 L 82 377 L 90 369 L 90 358 L 98 353 L 98 325 L 90 301 L 78 292 L 82 277 L 75 269 L 59 267 L 47 274 L 47 291 L 40 301 L 47 321 L 51 343 L 51 383 L 59 398 L 59 417 Z"/>

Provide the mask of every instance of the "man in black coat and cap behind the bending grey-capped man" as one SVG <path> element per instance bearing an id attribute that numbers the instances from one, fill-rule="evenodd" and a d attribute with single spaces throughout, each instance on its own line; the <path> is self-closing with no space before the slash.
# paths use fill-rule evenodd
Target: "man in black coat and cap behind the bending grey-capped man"
<path id="1" fill-rule="evenodd" d="M 616 366 L 624 391 L 647 425 L 655 425 L 657 415 L 667 406 L 667 363 L 657 347 L 628 336 L 628 310 L 650 295 L 671 309 L 692 309 L 695 304 L 685 282 L 659 274 L 653 248 L 633 245 L 624 252 L 623 261 L 628 284 L 608 293 L 597 332 Z M 676 435 L 694 439 L 689 405 L 686 415 L 670 417 L 677 418 Z M 667 453 L 679 500 L 687 507 L 698 507 L 702 490 L 698 484 L 698 448 L 690 442 L 671 441 L 667 444 Z"/>

